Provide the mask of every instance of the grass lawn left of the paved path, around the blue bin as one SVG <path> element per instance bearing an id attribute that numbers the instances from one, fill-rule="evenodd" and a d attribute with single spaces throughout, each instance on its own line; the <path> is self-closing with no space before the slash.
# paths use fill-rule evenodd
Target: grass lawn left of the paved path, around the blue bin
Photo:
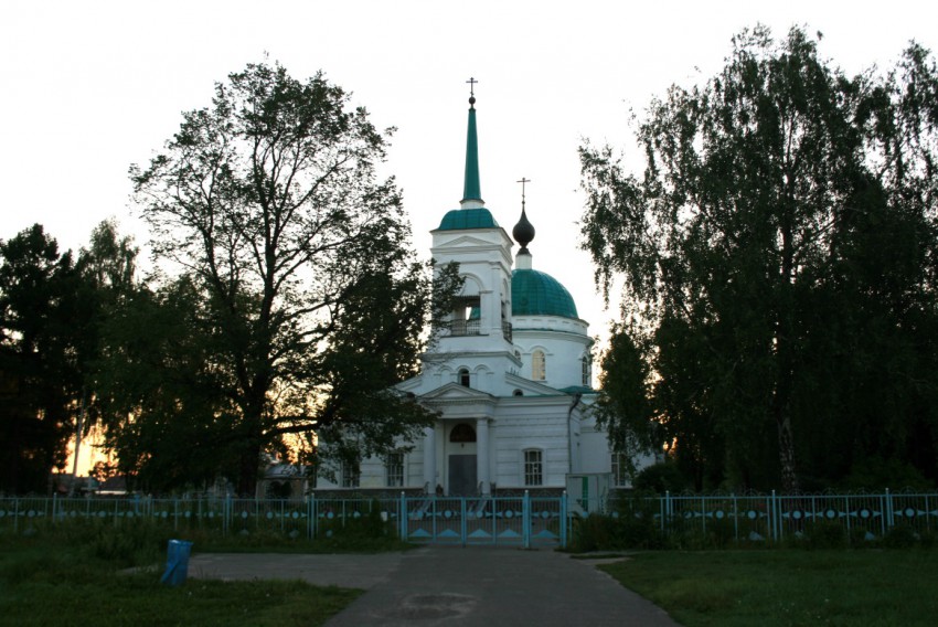
<path id="1" fill-rule="evenodd" d="M 0 625 L 322 625 L 361 591 L 305 582 L 189 580 L 159 583 L 160 541 L 117 534 L 0 535 Z M 116 545 L 117 544 L 117 545 Z"/>

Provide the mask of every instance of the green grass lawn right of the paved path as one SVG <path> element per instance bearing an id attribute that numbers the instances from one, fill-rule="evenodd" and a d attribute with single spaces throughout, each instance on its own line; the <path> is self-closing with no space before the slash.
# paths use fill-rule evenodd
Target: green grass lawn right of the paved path
<path id="1" fill-rule="evenodd" d="M 685 627 L 936 625 L 936 550 L 660 551 L 600 566 Z"/>

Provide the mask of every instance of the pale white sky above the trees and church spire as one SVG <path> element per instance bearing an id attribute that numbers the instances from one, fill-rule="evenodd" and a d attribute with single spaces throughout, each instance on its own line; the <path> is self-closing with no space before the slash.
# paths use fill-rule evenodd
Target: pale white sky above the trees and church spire
<path id="1" fill-rule="evenodd" d="M 482 196 L 511 233 L 521 206 L 537 235 L 534 267 L 557 278 L 593 334 L 605 311 L 578 251 L 582 138 L 636 153 L 627 125 L 669 85 L 713 75 L 731 36 L 764 23 L 823 32 L 821 54 L 848 73 L 888 67 L 909 40 L 938 47 L 938 3 L 415 0 L 42 1 L 0 6 L 0 238 L 39 222 L 77 248 L 115 216 L 145 245 L 129 206 L 130 163 L 146 163 L 180 113 L 246 63 L 322 70 L 379 127 L 396 126 L 397 177 L 429 256 L 428 232 L 459 205 L 469 96 L 478 103 Z"/>

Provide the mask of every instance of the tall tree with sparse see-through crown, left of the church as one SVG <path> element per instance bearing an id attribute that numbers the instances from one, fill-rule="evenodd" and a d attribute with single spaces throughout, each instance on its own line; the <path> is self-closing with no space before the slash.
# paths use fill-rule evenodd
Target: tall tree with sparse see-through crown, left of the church
<path id="1" fill-rule="evenodd" d="M 427 424 L 387 390 L 414 366 L 434 307 L 398 191 L 375 174 L 388 136 L 321 74 L 300 82 L 248 65 L 215 86 L 210 107 L 183 114 L 147 168 L 131 168 L 153 251 L 191 291 L 181 341 L 199 360 L 186 360 L 181 387 L 159 387 L 162 410 L 140 401 L 128 426 L 141 437 L 182 429 L 182 442 L 204 429 L 253 492 L 262 453 L 290 434 L 367 455 Z M 192 408 L 171 419 L 173 396 Z M 143 440 L 117 450 L 158 457 Z M 171 447 L 161 455 L 170 464 Z"/>

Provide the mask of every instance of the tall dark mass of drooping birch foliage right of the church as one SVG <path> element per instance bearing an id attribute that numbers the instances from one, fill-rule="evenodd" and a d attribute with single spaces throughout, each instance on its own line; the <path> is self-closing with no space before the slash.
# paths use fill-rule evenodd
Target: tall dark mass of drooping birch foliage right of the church
<path id="1" fill-rule="evenodd" d="M 797 490 L 870 456 L 935 478 L 936 76 L 913 45 L 851 78 L 802 30 L 757 28 L 652 102 L 641 179 L 582 148 L 584 245 L 607 296 L 625 281 L 697 487 Z"/>

